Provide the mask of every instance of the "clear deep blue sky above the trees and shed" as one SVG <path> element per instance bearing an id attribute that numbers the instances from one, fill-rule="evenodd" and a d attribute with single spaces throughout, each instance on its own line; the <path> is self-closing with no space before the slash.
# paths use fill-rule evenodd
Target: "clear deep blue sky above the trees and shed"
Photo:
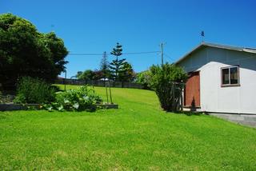
<path id="1" fill-rule="evenodd" d="M 70 53 L 158 51 L 174 62 L 201 42 L 256 47 L 254 0 L 1 0 L 0 13 L 26 18 L 40 32 L 54 32 Z M 102 56 L 67 56 L 67 76 L 99 68 Z M 109 61 L 114 59 L 108 56 Z M 136 72 L 160 64 L 159 54 L 123 55 Z"/>

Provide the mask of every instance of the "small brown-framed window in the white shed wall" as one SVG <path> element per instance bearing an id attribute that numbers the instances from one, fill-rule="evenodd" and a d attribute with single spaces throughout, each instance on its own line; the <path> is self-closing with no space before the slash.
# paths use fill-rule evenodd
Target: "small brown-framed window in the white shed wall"
<path id="1" fill-rule="evenodd" d="M 238 66 L 222 68 L 222 85 L 239 85 Z"/>

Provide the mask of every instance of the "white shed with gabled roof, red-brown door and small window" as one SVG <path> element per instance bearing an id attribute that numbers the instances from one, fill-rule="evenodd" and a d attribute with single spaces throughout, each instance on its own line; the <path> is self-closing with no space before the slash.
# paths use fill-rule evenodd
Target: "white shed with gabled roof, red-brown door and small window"
<path id="1" fill-rule="evenodd" d="M 202 42 L 176 64 L 190 75 L 185 108 L 256 114 L 256 49 Z"/>

